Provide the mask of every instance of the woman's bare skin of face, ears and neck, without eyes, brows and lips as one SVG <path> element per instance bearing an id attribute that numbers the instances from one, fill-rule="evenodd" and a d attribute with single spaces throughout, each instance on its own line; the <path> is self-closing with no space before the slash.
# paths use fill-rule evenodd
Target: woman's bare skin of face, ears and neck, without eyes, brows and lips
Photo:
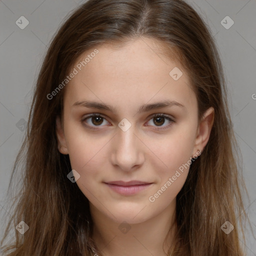
<path id="1" fill-rule="evenodd" d="M 155 201 L 148 198 L 197 149 L 203 150 L 214 109 L 208 108 L 203 119 L 197 119 L 196 97 L 188 76 L 182 66 L 163 54 L 156 41 L 140 38 L 119 48 L 105 44 L 97 49 L 95 57 L 65 87 L 63 117 L 56 119 L 59 151 L 69 154 L 72 169 L 80 175 L 76 183 L 90 201 L 93 239 L 102 255 L 166 255 L 175 232 L 172 228 L 168 233 L 175 223 L 175 198 L 189 168 Z M 84 52 L 77 62 L 92 51 Z M 176 66 L 183 72 L 178 80 L 169 75 Z M 82 100 L 104 102 L 117 111 L 73 106 Z M 142 104 L 163 100 L 175 100 L 184 107 L 172 105 L 138 113 Z M 103 118 L 81 121 L 90 113 Z M 175 122 L 165 118 L 157 122 L 154 113 L 165 113 Z M 118 126 L 123 118 L 131 123 L 126 131 Z M 127 196 L 103 183 L 113 180 L 153 184 Z M 130 229 L 123 233 L 121 227 Z M 168 242 L 163 244 L 166 235 Z"/>

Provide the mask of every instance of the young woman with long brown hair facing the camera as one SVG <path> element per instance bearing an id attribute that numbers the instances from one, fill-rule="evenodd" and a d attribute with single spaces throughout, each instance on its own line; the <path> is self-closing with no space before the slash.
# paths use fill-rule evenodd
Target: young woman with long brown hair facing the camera
<path id="1" fill-rule="evenodd" d="M 85 2 L 37 79 L 4 255 L 244 255 L 230 122 L 217 49 L 188 4 Z"/>

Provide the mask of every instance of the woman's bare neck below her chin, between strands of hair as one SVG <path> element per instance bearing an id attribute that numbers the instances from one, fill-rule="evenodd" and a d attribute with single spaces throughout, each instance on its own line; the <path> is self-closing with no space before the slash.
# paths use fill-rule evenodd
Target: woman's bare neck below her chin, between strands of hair
<path id="1" fill-rule="evenodd" d="M 90 204 L 92 239 L 102 256 L 166 256 L 175 234 L 175 206 L 174 199 L 158 215 L 129 224 L 116 222 Z"/>

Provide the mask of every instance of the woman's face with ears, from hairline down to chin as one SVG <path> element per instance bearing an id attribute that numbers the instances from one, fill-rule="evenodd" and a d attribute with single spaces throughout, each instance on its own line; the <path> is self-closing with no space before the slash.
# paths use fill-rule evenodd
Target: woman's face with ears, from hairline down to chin
<path id="1" fill-rule="evenodd" d="M 116 222 L 142 222 L 175 203 L 190 156 L 207 143 L 213 110 L 197 119 L 187 74 L 155 41 L 96 48 L 71 69 L 59 150 L 69 154 L 90 208 Z"/>

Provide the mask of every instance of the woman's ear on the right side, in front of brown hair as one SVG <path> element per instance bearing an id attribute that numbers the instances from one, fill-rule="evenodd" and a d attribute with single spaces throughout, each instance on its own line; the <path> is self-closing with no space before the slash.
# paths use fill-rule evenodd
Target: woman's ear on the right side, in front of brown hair
<path id="1" fill-rule="evenodd" d="M 214 121 L 214 108 L 211 106 L 209 107 L 203 114 L 197 129 L 197 134 L 195 138 L 194 144 L 194 154 L 196 153 L 197 149 L 203 150 L 205 145 L 207 144 L 210 131 Z"/>

